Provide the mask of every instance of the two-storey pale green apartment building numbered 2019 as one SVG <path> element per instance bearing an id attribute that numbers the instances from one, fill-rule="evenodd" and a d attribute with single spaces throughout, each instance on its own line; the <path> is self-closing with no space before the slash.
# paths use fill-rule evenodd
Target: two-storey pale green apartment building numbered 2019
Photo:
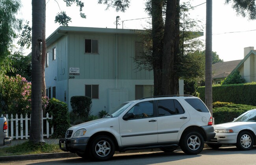
<path id="1" fill-rule="evenodd" d="M 153 71 L 136 69 L 139 30 L 60 26 L 46 39 L 46 93 L 70 107 L 72 96 L 92 98 L 92 114 L 152 96 Z M 184 93 L 183 80 L 179 92 Z"/>

